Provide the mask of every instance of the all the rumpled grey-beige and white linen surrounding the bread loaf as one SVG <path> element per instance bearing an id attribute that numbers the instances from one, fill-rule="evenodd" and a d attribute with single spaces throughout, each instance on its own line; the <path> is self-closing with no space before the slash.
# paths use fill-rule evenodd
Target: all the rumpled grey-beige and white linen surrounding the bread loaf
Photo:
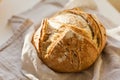
<path id="1" fill-rule="evenodd" d="M 11 26 L 17 28 L 10 41 L 0 46 L 0 80 L 120 80 L 120 27 L 94 11 L 89 12 L 100 18 L 106 27 L 108 37 L 107 45 L 94 65 L 80 73 L 61 74 L 49 69 L 37 57 L 36 50 L 31 44 L 32 34 L 37 28 L 36 23 L 63 9 L 63 3 L 67 2 L 67 0 L 63 3 L 55 1 L 54 3 L 52 0 L 44 4 L 39 3 L 33 10 L 20 15 L 32 19 L 35 25 L 30 20 L 21 19 L 21 17 L 11 19 L 13 21 Z"/>

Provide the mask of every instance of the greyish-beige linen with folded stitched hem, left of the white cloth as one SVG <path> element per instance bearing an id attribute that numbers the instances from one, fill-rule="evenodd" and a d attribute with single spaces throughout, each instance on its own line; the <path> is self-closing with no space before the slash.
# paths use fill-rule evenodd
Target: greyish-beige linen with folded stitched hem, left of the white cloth
<path id="1" fill-rule="evenodd" d="M 17 29 L 13 30 L 14 35 L 0 46 L 0 80 L 28 80 L 21 72 L 20 57 L 24 33 L 32 22 L 14 16 L 9 25 Z"/>

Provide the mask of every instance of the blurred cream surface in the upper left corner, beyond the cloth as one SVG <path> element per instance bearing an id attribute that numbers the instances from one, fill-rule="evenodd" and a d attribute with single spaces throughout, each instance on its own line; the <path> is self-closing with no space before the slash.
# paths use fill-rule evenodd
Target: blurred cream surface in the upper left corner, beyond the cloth
<path id="1" fill-rule="evenodd" d="M 7 26 L 8 19 L 31 9 L 40 0 L 0 0 L 0 45 L 12 35 L 11 27 Z"/>

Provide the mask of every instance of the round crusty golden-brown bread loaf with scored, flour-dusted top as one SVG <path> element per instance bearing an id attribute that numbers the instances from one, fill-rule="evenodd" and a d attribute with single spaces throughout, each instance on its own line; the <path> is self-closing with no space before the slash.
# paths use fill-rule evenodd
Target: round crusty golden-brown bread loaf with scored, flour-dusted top
<path id="1" fill-rule="evenodd" d="M 44 19 L 32 42 L 39 58 L 52 70 L 79 72 L 98 58 L 106 31 L 96 16 L 73 8 Z"/>

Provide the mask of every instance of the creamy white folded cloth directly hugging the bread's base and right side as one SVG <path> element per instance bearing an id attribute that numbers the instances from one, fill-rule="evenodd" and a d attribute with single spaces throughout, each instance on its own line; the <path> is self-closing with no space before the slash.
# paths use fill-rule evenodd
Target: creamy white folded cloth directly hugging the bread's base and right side
<path id="1" fill-rule="evenodd" d="M 92 11 L 90 11 L 92 13 Z M 94 12 L 95 13 L 95 12 Z M 48 68 L 37 56 L 31 43 L 34 33 L 31 28 L 25 37 L 22 50 L 23 74 L 31 80 L 119 80 L 120 39 L 119 27 L 96 13 L 107 30 L 107 44 L 94 65 L 80 73 L 57 73 Z M 116 27 L 116 29 L 113 29 Z M 116 35 L 114 37 L 114 35 Z"/>

